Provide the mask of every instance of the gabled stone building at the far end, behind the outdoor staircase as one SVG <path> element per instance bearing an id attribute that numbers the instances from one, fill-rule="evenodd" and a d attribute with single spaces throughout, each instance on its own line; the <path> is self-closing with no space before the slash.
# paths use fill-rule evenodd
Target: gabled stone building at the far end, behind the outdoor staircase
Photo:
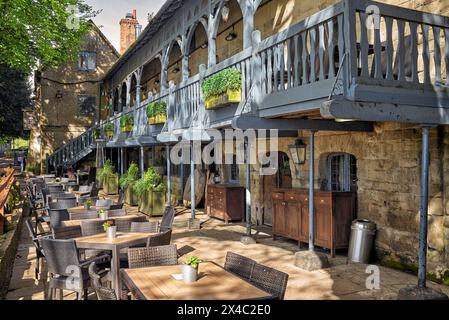
<path id="1" fill-rule="evenodd" d="M 31 130 L 28 163 L 45 166 L 45 158 L 79 136 L 99 119 L 103 76 L 119 58 L 118 52 L 91 22 L 78 60 L 35 73 L 37 126 Z"/>

